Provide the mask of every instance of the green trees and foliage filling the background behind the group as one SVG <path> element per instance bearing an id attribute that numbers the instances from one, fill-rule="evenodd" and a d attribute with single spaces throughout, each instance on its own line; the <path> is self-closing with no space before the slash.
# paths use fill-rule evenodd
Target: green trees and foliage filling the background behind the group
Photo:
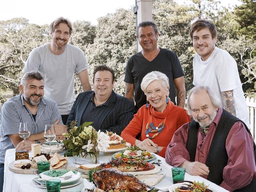
<path id="1" fill-rule="evenodd" d="M 173 50 L 178 55 L 185 73 L 186 90 L 193 87 L 192 62 L 195 54 L 188 35 L 189 27 L 197 18 L 208 18 L 213 20 L 218 30 L 217 46 L 227 50 L 237 62 L 244 92 L 255 96 L 256 1 L 242 2 L 232 10 L 221 7 L 217 0 L 187 0 L 187 4 L 179 4 L 177 0 L 152 1 L 153 20 L 160 32 L 158 46 Z M 48 25 L 29 24 L 25 18 L 0 21 L 0 90 L 19 94 L 24 63 L 33 48 L 51 41 L 48 29 Z M 70 44 L 80 47 L 85 53 L 89 79 L 93 78 L 96 65 L 106 64 L 115 70 L 114 90 L 124 95 L 126 62 L 136 53 L 133 10 L 118 9 L 113 14 L 98 18 L 96 26 L 87 21 L 76 21 L 73 29 Z M 76 74 L 75 93 L 80 92 L 82 87 Z"/>

